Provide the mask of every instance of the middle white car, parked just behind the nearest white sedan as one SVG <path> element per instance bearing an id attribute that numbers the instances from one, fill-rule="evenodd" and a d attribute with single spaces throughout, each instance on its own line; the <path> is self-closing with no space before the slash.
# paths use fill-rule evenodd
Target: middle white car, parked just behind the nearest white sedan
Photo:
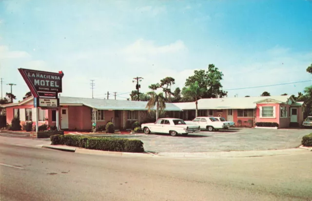
<path id="1" fill-rule="evenodd" d="M 216 120 L 214 117 L 196 117 L 193 121 L 185 121 L 189 125 L 199 125 L 200 129 L 213 131 L 219 129 L 227 129 L 229 125 L 222 121 Z"/>

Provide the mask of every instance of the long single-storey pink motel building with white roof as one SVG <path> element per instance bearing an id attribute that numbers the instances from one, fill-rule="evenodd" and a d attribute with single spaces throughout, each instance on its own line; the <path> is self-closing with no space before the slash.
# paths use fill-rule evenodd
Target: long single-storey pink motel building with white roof
<path id="1" fill-rule="evenodd" d="M 111 121 L 117 129 L 128 128 L 134 121 L 155 121 L 153 112 L 146 109 L 147 101 L 59 97 L 59 104 L 59 127 L 62 130 L 91 130 L 94 120 L 97 126 Z M 198 116 L 224 117 L 227 121 L 234 121 L 235 126 L 254 127 L 256 122 L 276 122 L 279 128 L 287 128 L 291 123 L 302 125 L 302 104 L 291 96 L 200 99 Z M 20 118 L 21 124 L 35 122 L 33 97 L 1 107 L 6 110 L 9 124 L 14 116 Z M 39 125 L 56 125 L 56 114 L 56 110 L 39 109 Z M 163 116 L 193 120 L 195 102 L 166 103 Z"/>

